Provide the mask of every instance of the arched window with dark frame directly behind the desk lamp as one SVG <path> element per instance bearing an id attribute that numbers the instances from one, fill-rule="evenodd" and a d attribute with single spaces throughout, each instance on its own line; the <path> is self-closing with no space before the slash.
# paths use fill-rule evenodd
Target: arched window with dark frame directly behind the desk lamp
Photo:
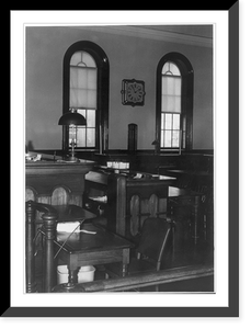
<path id="1" fill-rule="evenodd" d="M 75 109 L 87 118 L 77 127 L 77 150 L 99 151 L 107 148 L 109 59 L 92 42 L 77 42 L 64 57 L 64 113 Z M 68 150 L 71 136 L 62 128 L 62 149 Z"/>

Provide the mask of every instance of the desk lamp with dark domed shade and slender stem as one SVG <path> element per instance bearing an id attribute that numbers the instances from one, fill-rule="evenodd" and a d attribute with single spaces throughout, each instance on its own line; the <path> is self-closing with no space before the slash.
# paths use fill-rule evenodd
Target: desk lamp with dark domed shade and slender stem
<path id="1" fill-rule="evenodd" d="M 85 126 L 87 120 L 83 115 L 79 114 L 77 110 L 71 109 L 70 112 L 67 112 L 62 114 L 62 116 L 59 118 L 58 124 L 61 126 L 69 126 L 71 129 L 71 151 L 70 157 L 67 159 L 68 162 L 78 162 L 79 159 L 75 157 L 75 146 L 77 144 L 76 138 L 76 126 Z"/>

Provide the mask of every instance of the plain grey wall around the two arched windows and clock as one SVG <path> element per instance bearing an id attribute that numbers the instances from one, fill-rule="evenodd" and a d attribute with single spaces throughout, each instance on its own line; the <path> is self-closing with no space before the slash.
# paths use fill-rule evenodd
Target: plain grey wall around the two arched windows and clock
<path id="1" fill-rule="evenodd" d="M 156 70 L 161 57 L 179 52 L 194 69 L 193 149 L 213 144 L 213 48 L 135 35 L 56 26 L 26 27 L 26 143 L 34 149 L 60 149 L 62 113 L 62 59 L 78 41 L 92 41 L 110 61 L 109 148 L 127 148 L 128 124 L 138 125 L 138 149 L 152 149 L 156 132 Z M 145 81 L 144 106 L 122 104 L 122 80 Z"/>

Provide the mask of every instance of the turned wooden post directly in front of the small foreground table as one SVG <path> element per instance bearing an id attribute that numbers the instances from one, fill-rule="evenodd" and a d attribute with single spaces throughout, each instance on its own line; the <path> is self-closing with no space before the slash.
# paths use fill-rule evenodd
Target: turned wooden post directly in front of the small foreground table
<path id="1" fill-rule="evenodd" d="M 54 239 L 56 236 L 56 219 L 57 214 L 46 213 L 42 216 L 44 222 L 44 292 L 50 293 L 52 288 L 56 285 L 56 269 L 54 261 Z"/>

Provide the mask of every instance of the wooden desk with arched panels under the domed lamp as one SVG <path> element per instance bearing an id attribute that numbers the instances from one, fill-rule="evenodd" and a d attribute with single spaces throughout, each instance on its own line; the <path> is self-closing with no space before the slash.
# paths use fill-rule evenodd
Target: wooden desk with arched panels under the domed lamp
<path id="1" fill-rule="evenodd" d="M 84 175 L 94 163 L 89 160 L 66 162 L 52 155 L 42 155 L 38 161 L 25 160 L 25 200 L 82 206 Z"/>

